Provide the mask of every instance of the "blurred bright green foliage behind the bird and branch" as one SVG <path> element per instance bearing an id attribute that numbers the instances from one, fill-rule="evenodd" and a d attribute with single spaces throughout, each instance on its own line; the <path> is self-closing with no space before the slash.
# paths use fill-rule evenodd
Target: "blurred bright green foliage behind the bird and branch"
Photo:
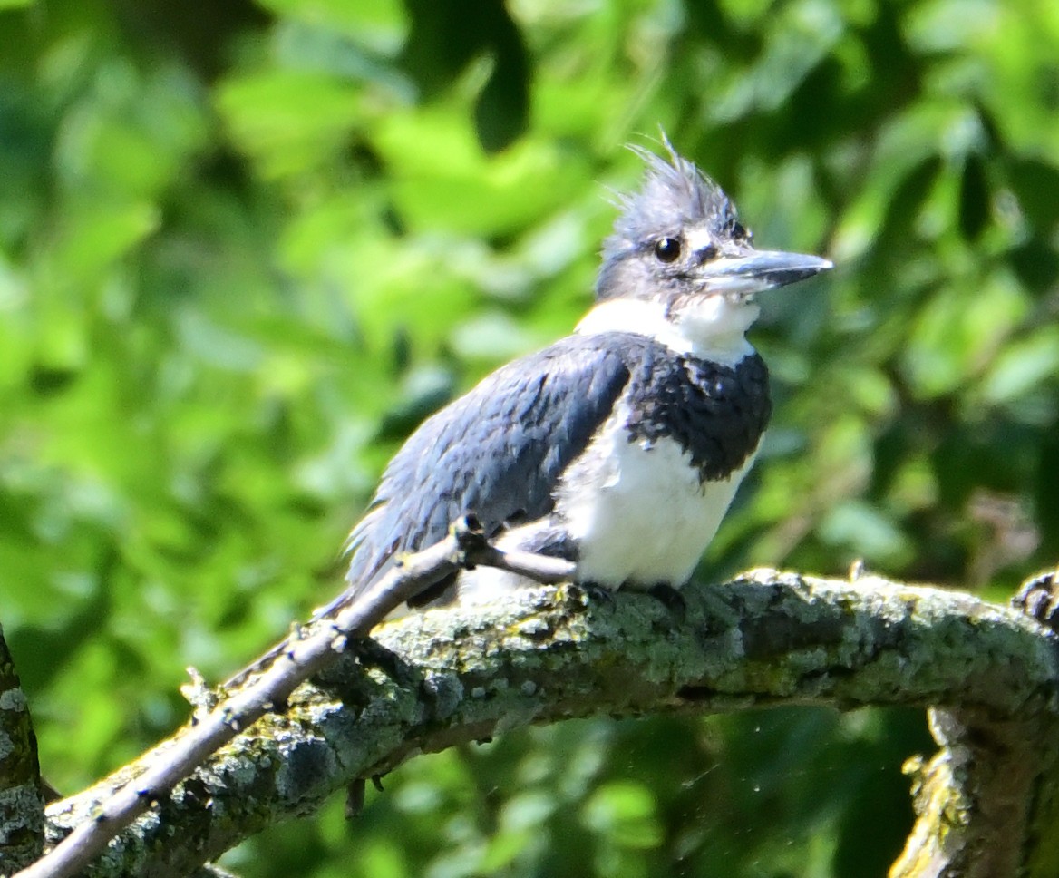
<path id="1" fill-rule="evenodd" d="M 569 332 L 664 126 L 766 246 L 776 416 L 705 561 L 1003 598 L 1059 555 L 1059 6 L 3 0 L 0 621 L 71 790 L 339 587 L 429 411 Z M 882 875 L 904 712 L 414 760 L 247 876 Z"/>

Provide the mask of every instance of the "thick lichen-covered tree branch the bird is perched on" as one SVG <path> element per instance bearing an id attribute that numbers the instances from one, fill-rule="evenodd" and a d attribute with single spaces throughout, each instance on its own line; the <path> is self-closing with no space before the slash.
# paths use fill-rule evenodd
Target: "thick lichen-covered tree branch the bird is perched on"
<path id="1" fill-rule="evenodd" d="M 1054 635 L 1013 609 L 874 576 L 773 571 L 682 594 L 670 608 L 633 592 L 593 601 L 574 586 L 534 588 L 382 626 L 159 795 L 88 873 L 187 874 L 356 778 L 530 723 L 784 702 L 1055 716 Z M 52 806 L 51 839 L 194 732 Z"/>

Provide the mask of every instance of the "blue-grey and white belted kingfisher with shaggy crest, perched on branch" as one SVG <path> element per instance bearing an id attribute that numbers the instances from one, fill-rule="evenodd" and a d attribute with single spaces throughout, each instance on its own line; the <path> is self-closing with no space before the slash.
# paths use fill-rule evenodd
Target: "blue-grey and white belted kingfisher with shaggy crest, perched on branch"
<path id="1" fill-rule="evenodd" d="M 597 588 L 679 587 L 754 462 L 771 413 L 747 341 L 754 293 L 831 268 L 756 250 L 724 193 L 666 141 L 620 198 L 595 305 L 428 418 L 353 528 L 345 599 L 472 514 L 499 548 L 574 561 Z M 460 573 L 410 604 L 481 599 L 517 577 Z M 501 592 L 502 593 L 502 592 Z"/>

